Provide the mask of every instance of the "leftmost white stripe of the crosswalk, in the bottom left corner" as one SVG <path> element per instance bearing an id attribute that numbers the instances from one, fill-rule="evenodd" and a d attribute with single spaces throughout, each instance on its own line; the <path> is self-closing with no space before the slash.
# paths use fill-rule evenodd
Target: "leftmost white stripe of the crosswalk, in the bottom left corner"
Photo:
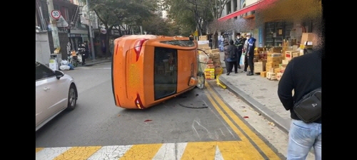
<path id="1" fill-rule="evenodd" d="M 44 148 L 36 153 L 36 160 L 52 160 L 56 156 L 61 155 L 64 151 L 71 149 L 71 147 L 54 147 L 54 148 Z"/>

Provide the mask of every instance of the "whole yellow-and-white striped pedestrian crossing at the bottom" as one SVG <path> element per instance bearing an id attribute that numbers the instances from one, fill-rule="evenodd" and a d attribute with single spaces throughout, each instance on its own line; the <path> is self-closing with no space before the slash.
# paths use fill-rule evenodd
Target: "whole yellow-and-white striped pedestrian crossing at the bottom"
<path id="1" fill-rule="evenodd" d="M 243 141 L 36 148 L 37 160 L 264 159 Z"/>

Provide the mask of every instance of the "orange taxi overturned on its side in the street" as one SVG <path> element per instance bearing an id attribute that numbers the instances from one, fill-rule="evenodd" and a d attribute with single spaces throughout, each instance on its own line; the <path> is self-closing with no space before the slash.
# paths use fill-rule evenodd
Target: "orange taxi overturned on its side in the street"
<path id="1" fill-rule="evenodd" d="M 145 109 L 197 85 L 197 43 L 188 37 L 116 38 L 111 66 L 115 104 Z"/>

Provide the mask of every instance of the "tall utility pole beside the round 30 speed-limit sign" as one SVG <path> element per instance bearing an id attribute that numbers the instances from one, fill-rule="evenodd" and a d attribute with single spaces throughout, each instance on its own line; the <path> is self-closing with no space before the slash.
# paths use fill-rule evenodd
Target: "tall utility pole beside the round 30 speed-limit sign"
<path id="1" fill-rule="evenodd" d="M 47 7 L 49 9 L 49 20 L 52 30 L 52 38 L 54 39 L 54 53 L 59 53 L 61 46 L 59 45 L 59 30 L 57 28 L 57 21 L 51 16 L 51 11 L 54 10 L 54 2 L 53 0 L 47 0 Z"/>

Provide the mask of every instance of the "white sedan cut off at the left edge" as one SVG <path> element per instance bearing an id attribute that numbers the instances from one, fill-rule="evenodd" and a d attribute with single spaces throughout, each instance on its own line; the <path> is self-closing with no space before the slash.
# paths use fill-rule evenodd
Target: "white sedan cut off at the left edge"
<path id="1" fill-rule="evenodd" d="M 36 131 L 64 110 L 74 110 L 78 92 L 74 79 L 36 60 Z"/>

